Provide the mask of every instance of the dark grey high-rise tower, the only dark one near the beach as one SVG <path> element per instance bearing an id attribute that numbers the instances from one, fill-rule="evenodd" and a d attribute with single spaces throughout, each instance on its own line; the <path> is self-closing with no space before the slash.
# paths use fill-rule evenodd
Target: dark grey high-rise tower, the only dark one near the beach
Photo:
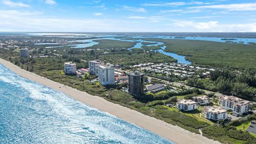
<path id="1" fill-rule="evenodd" d="M 139 71 L 128 74 L 128 92 L 134 97 L 139 97 L 144 93 L 145 75 Z"/>

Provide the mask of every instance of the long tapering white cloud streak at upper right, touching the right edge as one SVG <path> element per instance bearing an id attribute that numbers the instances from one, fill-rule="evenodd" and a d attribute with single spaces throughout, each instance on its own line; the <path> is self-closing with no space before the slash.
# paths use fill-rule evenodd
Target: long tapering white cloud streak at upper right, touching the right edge
<path id="1" fill-rule="evenodd" d="M 190 9 L 223 9 L 228 11 L 256 11 L 256 3 L 220 4 L 189 7 Z"/>

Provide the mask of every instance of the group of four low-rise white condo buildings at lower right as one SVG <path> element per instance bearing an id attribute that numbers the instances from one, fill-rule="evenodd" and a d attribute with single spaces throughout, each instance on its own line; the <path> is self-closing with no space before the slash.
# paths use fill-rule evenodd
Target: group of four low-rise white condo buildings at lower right
<path id="1" fill-rule="evenodd" d="M 207 95 L 202 95 L 193 97 L 193 100 L 178 99 L 176 106 L 179 110 L 189 111 L 195 110 L 197 105 L 207 105 L 208 103 L 210 103 L 210 98 Z M 218 121 L 220 119 L 227 119 L 227 110 L 231 110 L 237 115 L 248 113 L 249 104 L 249 101 L 243 100 L 241 98 L 221 95 L 219 97 L 220 106 L 205 106 L 202 114 L 207 119 Z"/>

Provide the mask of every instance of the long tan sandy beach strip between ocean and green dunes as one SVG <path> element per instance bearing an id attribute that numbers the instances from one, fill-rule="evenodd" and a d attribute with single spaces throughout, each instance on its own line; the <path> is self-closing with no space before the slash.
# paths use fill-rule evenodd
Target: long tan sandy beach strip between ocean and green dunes
<path id="1" fill-rule="evenodd" d="M 13 73 L 30 79 L 31 81 L 37 82 L 39 84 L 50 87 L 51 89 L 60 91 L 66 95 L 69 95 L 71 98 L 84 103 L 87 106 L 96 108 L 101 111 L 105 111 L 111 115 L 116 116 L 117 118 L 124 119 L 127 122 L 135 124 L 142 127 L 150 132 L 160 135 L 163 138 L 166 138 L 175 143 L 190 143 L 190 144 L 200 144 L 200 143 L 220 143 L 203 137 L 200 134 L 189 132 L 185 129 L 182 129 L 179 126 L 175 126 L 154 117 L 144 115 L 139 113 L 136 110 L 123 107 L 116 103 L 107 101 L 101 97 L 88 94 L 86 92 L 78 91 L 72 87 L 54 82 L 45 77 L 36 75 L 20 67 L 14 65 L 13 63 L 3 60 L 0 58 L 0 63 L 6 68 L 13 71 Z M 61 88 L 60 88 L 61 87 Z"/>

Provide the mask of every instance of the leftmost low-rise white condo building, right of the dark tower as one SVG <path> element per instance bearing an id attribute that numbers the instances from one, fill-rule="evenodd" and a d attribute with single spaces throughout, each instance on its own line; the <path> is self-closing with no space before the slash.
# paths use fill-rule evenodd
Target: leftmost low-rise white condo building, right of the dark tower
<path id="1" fill-rule="evenodd" d="M 176 106 L 179 110 L 189 111 L 196 109 L 197 103 L 193 100 L 178 99 Z"/>

